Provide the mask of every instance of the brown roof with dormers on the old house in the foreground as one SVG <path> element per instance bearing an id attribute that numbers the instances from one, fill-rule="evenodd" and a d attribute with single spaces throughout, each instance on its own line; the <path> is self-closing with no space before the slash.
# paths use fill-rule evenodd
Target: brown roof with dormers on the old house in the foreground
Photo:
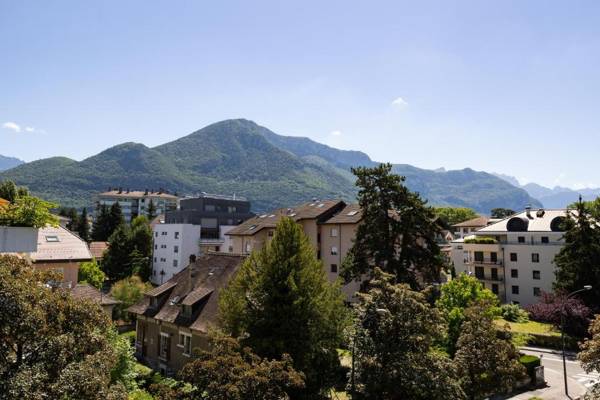
<path id="1" fill-rule="evenodd" d="M 144 299 L 129 307 L 127 311 L 170 322 L 178 326 L 208 332 L 215 325 L 218 299 L 221 289 L 227 286 L 239 269 L 244 256 L 228 253 L 210 253 L 198 257 L 192 267 L 190 284 L 189 268 L 169 279 L 165 284 L 146 293 Z M 158 299 L 158 308 L 150 306 L 150 299 Z M 191 318 L 183 315 L 182 306 L 192 307 Z"/>

